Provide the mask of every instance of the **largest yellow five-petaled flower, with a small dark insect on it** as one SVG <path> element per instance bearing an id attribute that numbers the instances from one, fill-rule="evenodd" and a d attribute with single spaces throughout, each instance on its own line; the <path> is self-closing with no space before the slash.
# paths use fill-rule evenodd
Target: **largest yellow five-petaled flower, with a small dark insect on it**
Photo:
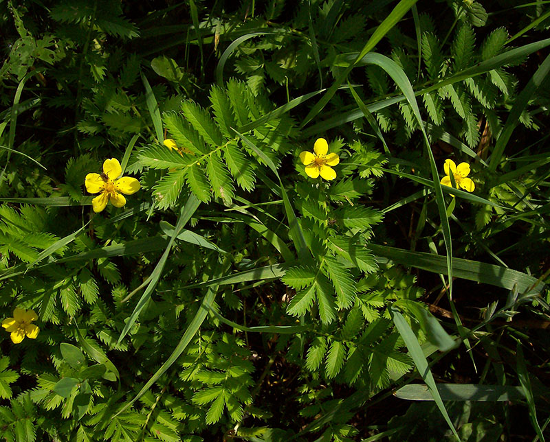
<path id="1" fill-rule="evenodd" d="M 91 200 L 91 207 L 94 212 L 102 211 L 107 202 L 115 207 L 122 207 L 126 204 L 126 198 L 122 194 L 131 195 L 140 190 L 140 182 L 129 176 L 122 176 L 122 167 L 118 159 L 107 159 L 103 163 L 102 174 L 87 174 L 85 179 L 86 190 L 90 194 L 98 194 Z"/>

